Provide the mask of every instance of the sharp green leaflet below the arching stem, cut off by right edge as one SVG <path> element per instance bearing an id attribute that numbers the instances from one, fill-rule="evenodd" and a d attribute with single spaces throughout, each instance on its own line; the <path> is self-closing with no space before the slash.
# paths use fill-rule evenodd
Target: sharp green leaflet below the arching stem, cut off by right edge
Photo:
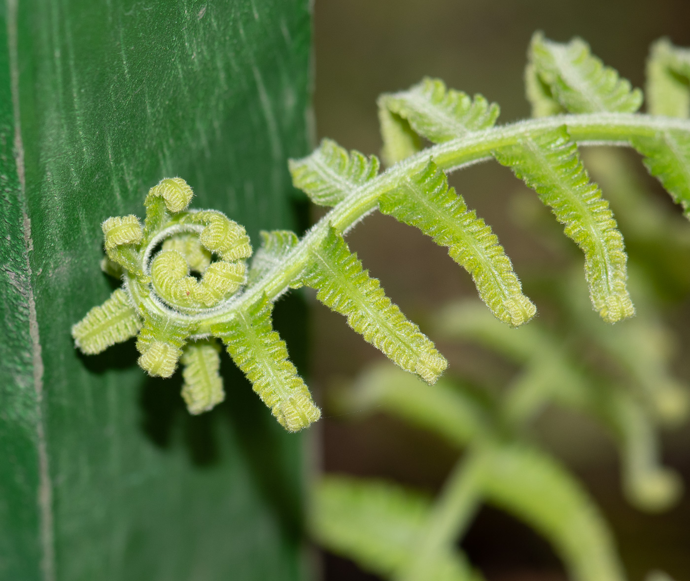
<path id="1" fill-rule="evenodd" d="M 644 165 L 680 204 L 690 219 L 690 136 L 686 131 L 665 129 L 653 137 L 636 136 L 633 147 L 644 155 Z"/>

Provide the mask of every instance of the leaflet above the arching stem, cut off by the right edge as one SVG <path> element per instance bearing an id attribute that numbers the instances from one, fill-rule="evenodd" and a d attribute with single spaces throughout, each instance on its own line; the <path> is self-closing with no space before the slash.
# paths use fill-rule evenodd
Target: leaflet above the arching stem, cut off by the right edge
<path id="1" fill-rule="evenodd" d="M 690 117 L 690 49 L 656 41 L 647 59 L 647 111 L 651 115 Z"/>

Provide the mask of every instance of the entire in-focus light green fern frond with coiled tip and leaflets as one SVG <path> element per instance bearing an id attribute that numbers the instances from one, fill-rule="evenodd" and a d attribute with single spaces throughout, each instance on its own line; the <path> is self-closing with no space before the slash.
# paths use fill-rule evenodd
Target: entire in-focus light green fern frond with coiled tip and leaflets
<path id="1" fill-rule="evenodd" d="M 415 225 L 448 247 L 500 321 L 526 323 L 535 307 L 522 294 L 511 261 L 446 180 L 446 173 L 489 158 L 509 166 L 551 207 L 584 252 L 593 307 L 604 321 L 621 321 L 634 313 L 623 240 L 580 162 L 578 144 L 638 149 L 687 211 L 688 62 L 686 50 L 667 41 L 655 45 L 647 89 L 651 115 L 635 113 L 642 93 L 603 66 L 583 41 L 557 44 L 539 34 L 526 70 L 533 120 L 496 126 L 496 104 L 447 90 L 436 79 L 382 95 L 388 169 L 380 173 L 375 156 L 348 153 L 330 140 L 291 161 L 295 186 L 315 204 L 333 208 L 301 240 L 287 231 L 263 233 L 249 267 L 252 248 L 244 228 L 217 211 L 188 210 L 190 187 L 180 178 L 164 179 L 146 197 L 143 227 L 136 216 L 103 222 L 103 269 L 121 276 L 123 285 L 73 327 L 75 343 L 97 353 L 137 335 L 139 365 L 149 374 L 170 377 L 182 363 L 184 399 L 190 412 L 199 413 L 224 397 L 220 339 L 278 421 L 301 430 L 320 411 L 272 328 L 271 310 L 290 288 L 308 286 L 394 363 L 433 384 L 446 360 L 362 268 L 344 235 L 375 209 Z M 423 140 L 432 145 L 422 149 Z"/>

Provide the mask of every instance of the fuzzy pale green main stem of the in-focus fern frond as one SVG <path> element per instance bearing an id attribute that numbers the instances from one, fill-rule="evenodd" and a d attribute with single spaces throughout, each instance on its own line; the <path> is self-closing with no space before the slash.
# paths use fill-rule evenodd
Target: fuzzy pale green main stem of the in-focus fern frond
<path id="1" fill-rule="evenodd" d="M 160 316 L 174 316 L 181 321 L 197 323 L 199 336 L 209 334 L 211 325 L 231 321 L 239 310 L 257 301 L 262 294 L 265 293 L 269 301 L 275 301 L 289 289 L 290 284 L 294 284 L 299 274 L 308 266 L 313 249 L 326 237 L 331 225 L 339 232 L 348 231 L 376 208 L 382 193 L 396 187 L 405 175 L 424 169 L 429 158 L 433 158 L 440 169 L 449 173 L 489 160 L 492 158 L 491 151 L 514 145 L 520 137 L 526 137 L 534 131 L 546 131 L 562 125 L 566 125 L 573 140 L 585 145 L 631 146 L 634 137 L 653 137 L 659 131 L 670 129 L 690 135 L 690 120 L 642 113 L 555 115 L 475 131 L 415 153 L 357 187 L 356 192 L 346 196 L 305 234 L 286 255 L 282 268 L 266 273 L 255 285 L 213 309 L 199 314 L 180 314 L 156 301 L 151 294 L 140 288 L 140 283 L 130 275 L 127 275 L 126 286 L 137 305 L 144 302 L 150 311 Z"/>

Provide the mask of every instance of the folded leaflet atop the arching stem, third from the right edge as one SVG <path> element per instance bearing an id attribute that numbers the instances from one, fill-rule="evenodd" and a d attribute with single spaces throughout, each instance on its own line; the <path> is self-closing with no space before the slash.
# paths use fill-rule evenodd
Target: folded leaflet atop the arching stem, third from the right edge
<path id="1" fill-rule="evenodd" d="M 462 91 L 446 89 L 441 79 L 429 78 L 407 91 L 381 95 L 378 104 L 388 165 L 400 161 L 406 157 L 406 150 L 412 149 L 408 126 L 417 135 L 442 143 L 492 127 L 500 113 L 499 106 L 490 104 L 482 95 L 471 99 Z M 407 155 L 410 153 L 414 152 Z"/>

